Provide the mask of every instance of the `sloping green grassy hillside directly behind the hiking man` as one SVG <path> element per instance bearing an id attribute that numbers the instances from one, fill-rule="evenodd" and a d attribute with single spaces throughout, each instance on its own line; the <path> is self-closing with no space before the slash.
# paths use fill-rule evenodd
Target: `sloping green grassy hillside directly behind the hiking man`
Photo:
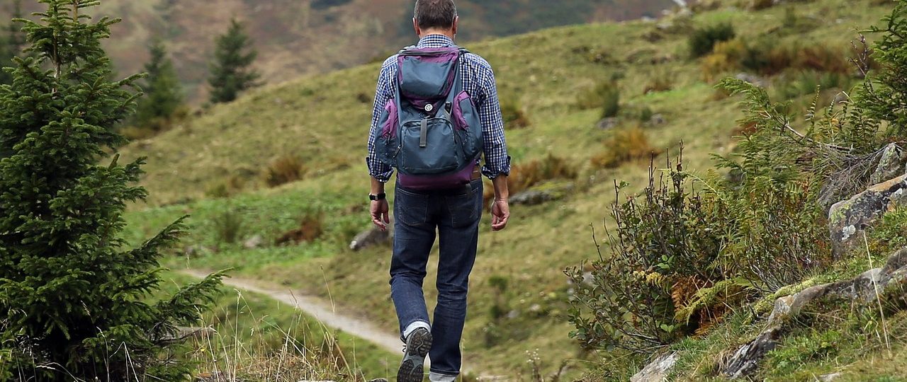
<path id="1" fill-rule="evenodd" d="M 543 166 L 561 158 L 569 170 L 561 172 L 575 177 L 569 179 L 572 191 L 559 201 L 514 206 L 511 226 L 502 233 L 492 234 L 487 217 L 483 221 L 463 343 L 467 367 L 529 376 L 527 360 L 535 359 L 537 350 L 546 373 L 566 362 L 568 373 L 576 375 L 597 359 L 568 338 L 571 287 L 562 270 L 597 256 L 590 224 L 600 226 L 609 214 L 612 179 L 642 186 L 648 165 L 636 159 L 603 168 L 598 158 L 622 154 L 615 151 L 629 136 L 637 137 L 629 148 L 642 151 L 642 157 L 649 150 L 676 153 L 683 140 L 687 167 L 705 170 L 709 154 L 729 152 L 739 132 L 738 100 L 706 80 L 740 70 L 689 58 L 694 28 L 730 23 L 742 41 L 831 47 L 843 60 L 855 31 L 886 13 L 879 3 L 817 0 L 755 12 L 717 7 L 658 23 L 569 26 L 468 44 L 495 67 L 502 99 L 529 121 L 528 127 L 508 129 L 514 164 Z M 369 224 L 363 158 L 377 70 L 369 64 L 270 85 L 123 148 L 126 158 L 149 158 L 142 183 L 151 201 L 133 208 L 132 240 L 190 214 L 188 251 L 174 255 L 171 266 L 233 267 L 245 277 L 330 297 L 344 310 L 395 330 L 389 248 L 346 249 L 352 235 Z M 773 94 L 804 107 L 814 89 L 807 74 L 782 72 L 764 81 Z M 600 129 L 601 108 L 582 105 L 600 103 L 595 89 L 611 81 L 620 93 L 618 127 Z M 845 87 L 848 81 L 837 84 Z M 641 120 L 652 113 L 663 123 Z M 293 157 L 305 167 L 302 180 L 263 186 L 263 174 L 275 159 Z M 658 163 L 666 158 L 662 154 Z M 304 231 L 301 222 L 313 221 L 320 229 L 310 231 L 321 234 L 312 234 L 312 241 L 274 245 L 291 230 Z M 256 235 L 265 244 L 244 248 L 242 242 Z M 433 279 L 430 270 L 426 284 Z M 433 298 L 431 291 L 428 295 Z"/>

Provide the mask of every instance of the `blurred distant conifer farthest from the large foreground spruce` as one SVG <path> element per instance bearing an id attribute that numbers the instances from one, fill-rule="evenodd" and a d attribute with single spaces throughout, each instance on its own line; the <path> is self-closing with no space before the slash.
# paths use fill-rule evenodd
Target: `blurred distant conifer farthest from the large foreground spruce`
<path id="1" fill-rule="evenodd" d="M 251 47 L 249 35 L 236 19 L 230 20 L 227 33 L 218 36 L 211 63 L 211 103 L 236 100 L 241 91 L 258 86 L 260 74 L 251 68 L 258 52 Z"/>

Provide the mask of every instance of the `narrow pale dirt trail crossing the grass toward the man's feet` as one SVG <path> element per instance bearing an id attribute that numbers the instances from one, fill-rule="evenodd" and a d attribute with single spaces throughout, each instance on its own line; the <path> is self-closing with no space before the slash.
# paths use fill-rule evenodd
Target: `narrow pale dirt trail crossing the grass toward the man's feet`
<path id="1" fill-rule="evenodd" d="M 183 270 L 181 273 L 188 274 L 192 277 L 204 278 L 208 272 L 197 270 Z M 403 343 L 400 337 L 395 334 L 386 332 L 378 328 L 375 324 L 366 320 L 359 320 L 355 317 L 345 316 L 337 313 L 329 303 L 320 298 L 306 295 L 303 293 L 293 292 L 289 289 L 264 287 L 262 282 L 256 282 L 247 279 L 229 277 L 224 279 L 224 285 L 228 285 L 240 290 L 251 291 L 264 294 L 274 300 L 284 302 L 290 306 L 302 310 L 309 316 L 321 321 L 325 326 L 332 329 L 343 330 L 360 339 L 365 339 L 375 345 L 386 349 L 391 353 L 400 353 L 403 349 Z M 402 355 L 402 353 L 400 353 Z"/>

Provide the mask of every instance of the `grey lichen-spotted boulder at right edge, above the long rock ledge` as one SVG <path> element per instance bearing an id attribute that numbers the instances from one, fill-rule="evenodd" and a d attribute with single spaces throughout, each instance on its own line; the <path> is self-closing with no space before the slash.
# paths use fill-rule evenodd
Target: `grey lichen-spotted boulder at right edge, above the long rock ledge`
<path id="1" fill-rule="evenodd" d="M 898 205 L 907 203 L 907 175 L 869 187 L 863 193 L 832 205 L 828 229 L 832 251 L 840 257 L 853 244 L 863 243 L 863 230 Z"/>

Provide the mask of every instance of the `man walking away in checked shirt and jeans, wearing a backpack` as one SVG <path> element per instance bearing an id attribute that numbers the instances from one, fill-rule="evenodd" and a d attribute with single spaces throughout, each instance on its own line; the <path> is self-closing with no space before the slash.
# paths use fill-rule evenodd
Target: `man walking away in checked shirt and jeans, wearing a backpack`
<path id="1" fill-rule="evenodd" d="M 462 363 L 466 292 L 483 211 L 482 175 L 492 179 L 492 230 L 507 226 L 510 157 L 491 65 L 453 43 L 453 0 L 418 0 L 419 42 L 388 58 L 375 91 L 368 139 L 372 222 L 390 224 L 385 183 L 397 170 L 391 297 L 405 356 L 400 382 L 453 381 Z M 481 167 L 479 156 L 484 155 Z M 439 238 L 434 320 L 423 294 L 425 265 Z"/>

